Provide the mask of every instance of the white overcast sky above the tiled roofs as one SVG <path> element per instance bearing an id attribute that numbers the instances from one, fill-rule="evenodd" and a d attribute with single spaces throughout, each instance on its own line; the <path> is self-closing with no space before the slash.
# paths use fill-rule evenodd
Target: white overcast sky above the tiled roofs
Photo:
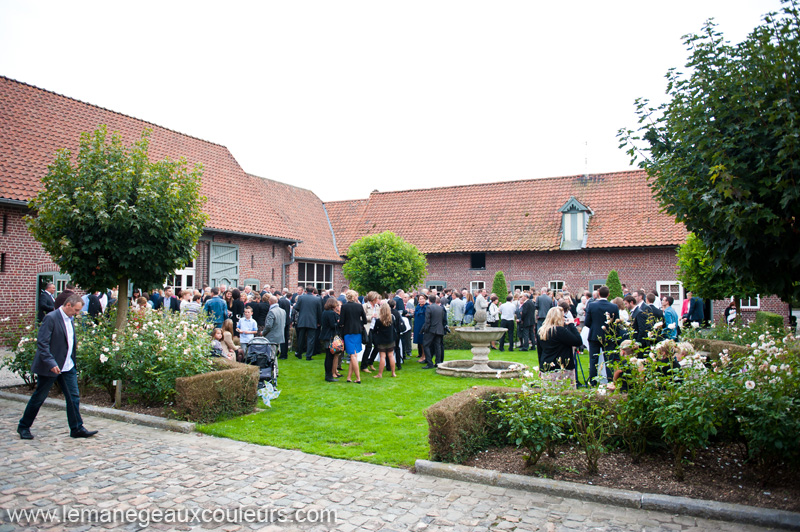
<path id="1" fill-rule="evenodd" d="M 227 146 L 325 201 L 629 168 L 713 17 L 779 0 L 0 0 L 0 75 Z M 0 112 L 2 109 L 0 108 Z M 588 161 L 587 161 L 588 159 Z M 513 198 L 510 198 L 513 200 Z"/>

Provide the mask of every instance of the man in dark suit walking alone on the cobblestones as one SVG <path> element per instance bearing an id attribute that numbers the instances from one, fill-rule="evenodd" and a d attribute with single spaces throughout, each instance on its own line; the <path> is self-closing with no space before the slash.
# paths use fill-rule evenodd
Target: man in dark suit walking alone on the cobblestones
<path id="1" fill-rule="evenodd" d="M 17 426 L 17 433 L 23 440 L 33 439 L 31 425 L 56 381 L 64 392 L 69 435 L 73 438 L 88 438 L 97 434 L 96 430 L 88 431 L 84 428 L 80 414 L 78 372 L 75 369 L 77 338 L 73 317 L 79 314 L 82 308 L 83 300 L 73 294 L 61 308 L 50 312 L 42 320 L 36 344 L 36 356 L 31 366 L 31 371 L 36 374 L 36 390 Z"/>

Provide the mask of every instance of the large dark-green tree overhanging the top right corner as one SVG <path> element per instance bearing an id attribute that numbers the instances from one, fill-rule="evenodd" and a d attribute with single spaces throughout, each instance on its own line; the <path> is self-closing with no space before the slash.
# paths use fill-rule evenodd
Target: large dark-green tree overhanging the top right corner
<path id="1" fill-rule="evenodd" d="M 785 301 L 800 296 L 799 28 L 797 0 L 735 46 L 707 22 L 685 37 L 689 74 L 667 74 L 669 101 L 637 100 L 638 131 L 620 130 L 714 270 Z"/>

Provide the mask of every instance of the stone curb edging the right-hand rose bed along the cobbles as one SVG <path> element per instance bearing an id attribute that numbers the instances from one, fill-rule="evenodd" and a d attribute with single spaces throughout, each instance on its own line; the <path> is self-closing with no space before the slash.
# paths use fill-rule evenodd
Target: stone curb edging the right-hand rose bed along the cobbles
<path id="1" fill-rule="evenodd" d="M 800 530 L 800 513 L 784 510 L 588 486 L 563 480 L 513 475 L 476 467 L 431 462 L 430 460 L 417 460 L 415 469 L 421 475 L 533 491 L 581 501 L 746 523 L 767 528 Z"/>

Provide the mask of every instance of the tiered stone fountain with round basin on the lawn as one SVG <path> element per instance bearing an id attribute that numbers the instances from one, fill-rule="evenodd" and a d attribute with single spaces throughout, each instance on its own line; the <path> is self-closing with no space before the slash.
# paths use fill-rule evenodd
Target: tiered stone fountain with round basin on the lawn
<path id="1" fill-rule="evenodd" d="M 503 337 L 508 329 L 487 327 L 486 311 L 475 313 L 474 327 L 457 327 L 456 333 L 472 344 L 472 360 L 449 360 L 436 369 L 439 375 L 473 377 L 478 379 L 514 379 L 520 377 L 527 366 L 518 362 L 489 360 L 489 345 Z"/>

